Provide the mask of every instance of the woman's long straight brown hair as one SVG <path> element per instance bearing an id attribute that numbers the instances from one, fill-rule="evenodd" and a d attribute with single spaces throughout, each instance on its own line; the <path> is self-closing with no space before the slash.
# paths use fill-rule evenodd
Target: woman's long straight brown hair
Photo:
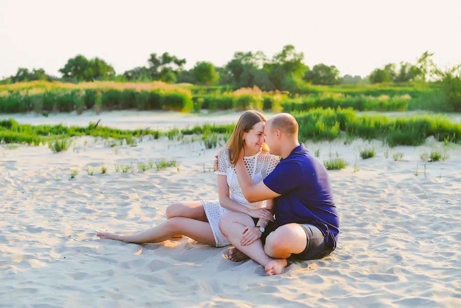
<path id="1" fill-rule="evenodd" d="M 229 161 L 231 164 L 235 165 L 237 163 L 237 158 L 244 143 L 243 132 L 250 131 L 253 126 L 259 122 L 265 123 L 267 120 L 261 112 L 256 110 L 248 110 L 240 115 L 239 121 L 226 145 L 226 148 L 229 149 Z M 266 152 L 269 151 L 269 147 L 266 143 L 263 144 L 262 150 Z"/>

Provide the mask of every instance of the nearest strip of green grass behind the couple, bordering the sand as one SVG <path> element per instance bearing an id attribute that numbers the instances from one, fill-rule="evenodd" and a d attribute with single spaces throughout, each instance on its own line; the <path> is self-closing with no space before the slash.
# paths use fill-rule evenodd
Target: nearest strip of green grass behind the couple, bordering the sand
<path id="1" fill-rule="evenodd" d="M 362 138 L 366 140 L 380 139 L 389 146 L 420 145 L 429 136 L 434 136 L 437 141 L 461 143 L 461 124 L 453 123 L 441 115 L 413 115 L 411 117 L 389 118 L 385 115 L 363 114 L 358 115 L 351 108 L 336 110 L 312 109 L 309 111 L 294 112 L 294 117 L 299 123 L 299 140 L 321 141 L 336 138 Z M 207 148 L 218 144 L 219 138 L 226 138 L 234 130 L 234 124 L 186 127 L 168 132 L 141 130 L 122 130 L 104 126 L 94 127 L 93 123 L 87 127 L 63 125 L 28 125 L 18 124 L 16 121 L 0 120 L 0 142 L 26 143 L 39 145 L 40 143 L 58 142 L 56 149 L 65 149 L 66 143 L 62 140 L 73 136 L 102 137 L 109 140 L 127 140 L 127 144 L 136 144 L 137 138 L 152 135 L 169 136 L 203 134 L 202 140 Z M 217 137 L 216 134 L 222 134 Z M 129 141 L 130 140 L 130 141 Z M 54 147 L 54 146 L 53 146 Z M 68 147 L 68 145 L 67 145 Z"/>

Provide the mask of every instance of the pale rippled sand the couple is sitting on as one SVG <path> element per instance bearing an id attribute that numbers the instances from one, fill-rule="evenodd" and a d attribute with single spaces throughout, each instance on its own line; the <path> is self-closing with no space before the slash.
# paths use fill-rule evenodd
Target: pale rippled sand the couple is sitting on
<path id="1" fill-rule="evenodd" d="M 188 238 L 138 245 L 95 236 L 162 223 L 176 201 L 217 198 L 209 172 L 217 149 L 166 138 L 119 147 L 117 155 L 104 140 L 74 145 L 61 153 L 0 147 L 0 306 L 461 306 L 459 147 L 447 161 L 426 163 L 425 176 L 419 153 L 440 146 L 433 140 L 391 149 L 389 159 L 376 141 L 369 160 L 358 156 L 368 142 L 306 143 L 321 160 L 331 148 L 350 164 L 329 171 L 339 244 L 329 257 L 290 260 L 285 274 L 265 277 L 254 261 L 228 261 L 226 248 Z M 402 161 L 392 160 L 394 151 L 405 153 Z M 114 170 L 114 163 L 165 157 L 178 159 L 179 172 Z M 107 174 L 87 175 L 87 166 L 103 163 Z M 80 173 L 70 179 L 73 168 Z"/>

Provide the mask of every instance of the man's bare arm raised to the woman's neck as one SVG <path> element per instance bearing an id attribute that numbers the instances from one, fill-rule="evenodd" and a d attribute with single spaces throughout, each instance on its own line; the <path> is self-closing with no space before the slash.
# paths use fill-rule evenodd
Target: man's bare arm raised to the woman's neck
<path id="1" fill-rule="evenodd" d="M 239 155 L 235 169 L 243 196 L 248 202 L 253 203 L 281 196 L 277 194 L 277 192 L 274 192 L 268 188 L 263 181 L 260 181 L 257 184 L 253 183 L 253 180 L 246 171 L 245 165 L 243 163 L 243 151 Z"/>

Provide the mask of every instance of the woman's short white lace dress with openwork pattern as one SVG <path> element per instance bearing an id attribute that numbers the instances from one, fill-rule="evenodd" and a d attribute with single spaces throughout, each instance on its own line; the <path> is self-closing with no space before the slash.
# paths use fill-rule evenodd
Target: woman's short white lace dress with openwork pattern
<path id="1" fill-rule="evenodd" d="M 274 170 L 279 163 L 277 156 L 271 155 L 269 152 L 260 151 L 253 156 L 244 156 L 243 162 L 245 163 L 246 170 L 251 176 L 253 183 L 262 181 L 268 174 Z M 245 197 L 243 197 L 242 190 L 240 189 L 239 182 L 237 180 L 237 174 L 235 173 L 235 166 L 229 161 L 229 150 L 224 149 L 218 155 L 218 170 L 215 174 L 223 175 L 227 177 L 227 185 L 229 186 L 229 197 L 235 202 L 245 205 L 251 208 L 260 208 L 265 205 L 265 201 L 249 203 Z M 213 230 L 215 236 L 216 246 L 222 247 L 230 245 L 227 238 L 219 230 L 219 220 L 225 213 L 229 213 L 230 210 L 222 207 L 219 204 L 219 200 L 200 200 L 205 209 L 206 217 Z"/>

